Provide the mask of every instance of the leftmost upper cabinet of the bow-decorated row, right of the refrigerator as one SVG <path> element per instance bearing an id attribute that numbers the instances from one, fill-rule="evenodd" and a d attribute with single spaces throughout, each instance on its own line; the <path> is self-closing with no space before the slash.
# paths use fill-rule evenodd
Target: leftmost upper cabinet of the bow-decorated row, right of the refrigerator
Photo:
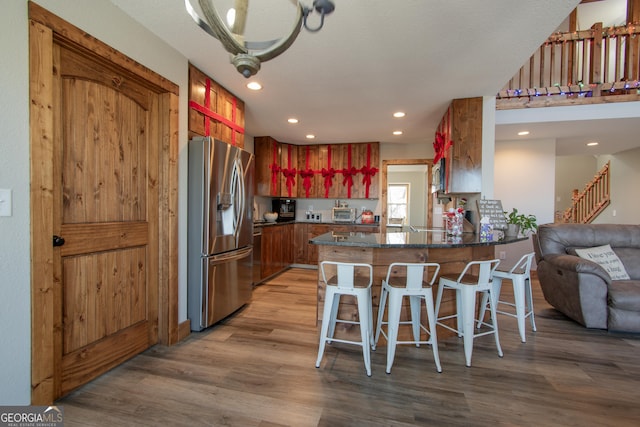
<path id="1" fill-rule="evenodd" d="M 280 196 L 280 143 L 270 136 L 253 139 L 256 196 Z"/>

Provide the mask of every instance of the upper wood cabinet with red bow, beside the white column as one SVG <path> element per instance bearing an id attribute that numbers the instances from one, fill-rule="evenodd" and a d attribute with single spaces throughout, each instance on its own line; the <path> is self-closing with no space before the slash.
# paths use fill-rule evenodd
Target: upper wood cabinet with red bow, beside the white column
<path id="1" fill-rule="evenodd" d="M 454 99 L 434 142 L 435 182 L 445 193 L 482 190 L 482 98 Z"/>

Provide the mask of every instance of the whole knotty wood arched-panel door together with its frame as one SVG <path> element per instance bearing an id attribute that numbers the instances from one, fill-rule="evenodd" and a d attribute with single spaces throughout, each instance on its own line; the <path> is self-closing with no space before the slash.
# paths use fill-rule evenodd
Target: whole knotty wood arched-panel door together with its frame
<path id="1" fill-rule="evenodd" d="M 44 405 L 178 340 L 178 87 L 32 2 L 29 17 L 32 404 Z"/>

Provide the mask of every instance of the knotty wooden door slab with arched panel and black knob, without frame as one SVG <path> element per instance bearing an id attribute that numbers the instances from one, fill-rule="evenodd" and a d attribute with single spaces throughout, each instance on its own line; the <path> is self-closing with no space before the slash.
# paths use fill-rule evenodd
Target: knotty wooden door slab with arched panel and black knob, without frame
<path id="1" fill-rule="evenodd" d="M 53 70 L 60 396 L 158 340 L 159 99 L 81 48 Z"/>

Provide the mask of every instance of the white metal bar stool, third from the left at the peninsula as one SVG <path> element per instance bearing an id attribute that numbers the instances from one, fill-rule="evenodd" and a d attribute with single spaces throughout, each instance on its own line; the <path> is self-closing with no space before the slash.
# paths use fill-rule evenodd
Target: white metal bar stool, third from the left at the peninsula
<path id="1" fill-rule="evenodd" d="M 498 336 L 498 322 L 496 320 L 496 304 L 497 295 L 492 292 L 492 276 L 495 269 L 500 264 L 500 260 L 492 259 L 487 261 L 471 261 L 469 262 L 459 276 L 444 275 L 440 276 L 438 286 L 438 297 L 436 299 L 436 318 L 437 324 L 445 329 L 453 331 L 464 340 L 464 356 L 467 366 L 471 366 L 471 353 L 473 352 L 474 338 L 483 335 L 493 334 L 496 340 L 496 348 L 498 356 L 502 357 L 502 348 L 500 347 L 500 338 Z M 473 274 L 471 269 L 477 270 L 478 274 Z M 467 273 L 468 272 L 468 273 Z M 456 314 L 450 316 L 438 317 L 440 312 L 440 303 L 442 302 L 442 291 L 445 289 L 454 289 L 456 291 Z M 474 323 L 476 322 L 476 293 L 481 292 L 489 295 L 489 309 L 491 310 L 491 323 L 482 322 L 482 325 L 490 328 L 489 331 L 475 333 Z M 443 320 L 456 318 L 457 329 L 442 323 Z M 479 320 L 480 321 L 480 320 Z"/>

